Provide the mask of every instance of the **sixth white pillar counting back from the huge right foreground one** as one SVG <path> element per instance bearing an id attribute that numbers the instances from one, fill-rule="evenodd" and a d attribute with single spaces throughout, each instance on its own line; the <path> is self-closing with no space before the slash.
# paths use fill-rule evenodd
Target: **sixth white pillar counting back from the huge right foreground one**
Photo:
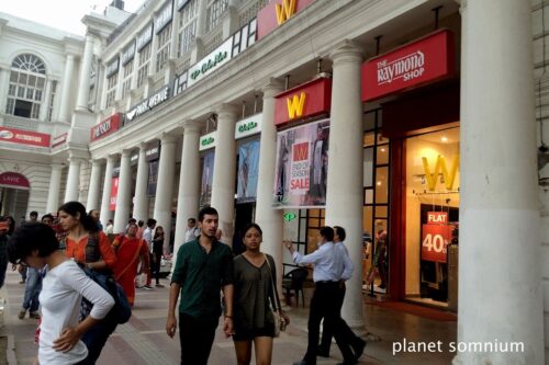
<path id="1" fill-rule="evenodd" d="M 160 161 L 156 184 L 155 210 L 153 218 L 164 228 L 164 247 L 167 248 L 171 236 L 171 205 L 173 202 L 173 173 L 176 170 L 176 137 L 165 134 L 160 139 Z"/>

